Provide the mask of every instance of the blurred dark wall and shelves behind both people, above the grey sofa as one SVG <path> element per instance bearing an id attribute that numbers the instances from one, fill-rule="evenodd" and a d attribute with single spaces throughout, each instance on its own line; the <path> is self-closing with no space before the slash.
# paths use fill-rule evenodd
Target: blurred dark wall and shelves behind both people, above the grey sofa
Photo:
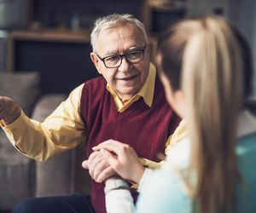
<path id="1" fill-rule="evenodd" d="M 224 15 L 255 50 L 255 11 L 253 0 L 0 0 L 0 72 L 38 71 L 44 92 L 68 93 L 97 75 L 90 29 L 97 17 L 112 13 L 134 14 L 153 43 L 176 20 Z"/>

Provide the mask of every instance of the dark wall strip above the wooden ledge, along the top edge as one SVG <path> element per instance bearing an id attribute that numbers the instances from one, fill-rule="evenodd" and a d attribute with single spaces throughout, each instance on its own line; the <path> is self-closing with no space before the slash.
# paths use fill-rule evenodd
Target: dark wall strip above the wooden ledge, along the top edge
<path id="1" fill-rule="evenodd" d="M 143 0 L 34 0 L 33 20 L 43 26 L 70 26 L 73 14 L 80 24 L 90 27 L 96 18 L 113 13 L 130 13 L 142 19 Z"/>

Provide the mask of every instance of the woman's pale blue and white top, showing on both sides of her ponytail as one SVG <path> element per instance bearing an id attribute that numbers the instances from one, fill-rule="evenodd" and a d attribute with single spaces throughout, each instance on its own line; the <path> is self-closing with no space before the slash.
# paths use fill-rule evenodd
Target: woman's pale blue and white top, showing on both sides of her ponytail
<path id="1" fill-rule="evenodd" d="M 185 122 L 183 123 L 185 125 Z M 236 187 L 236 213 L 256 213 L 256 118 L 247 110 L 241 112 L 237 128 L 236 153 L 242 183 Z M 188 135 L 179 139 L 167 153 L 166 164 L 160 170 L 146 169 L 138 190 L 140 196 L 135 208 L 129 188 L 116 186 L 115 180 L 106 181 L 106 208 L 108 213 L 186 213 L 193 212 L 192 199 L 185 190 L 178 170 L 189 173 L 190 154 Z M 209 182 L 211 184 L 211 182 Z M 122 185 L 122 184 L 121 184 Z"/>

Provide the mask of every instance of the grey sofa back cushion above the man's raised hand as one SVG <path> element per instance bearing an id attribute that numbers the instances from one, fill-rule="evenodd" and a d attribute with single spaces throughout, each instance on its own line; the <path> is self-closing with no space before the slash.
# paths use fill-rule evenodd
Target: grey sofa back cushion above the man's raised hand
<path id="1" fill-rule="evenodd" d="M 3 72 L 0 73 L 0 95 L 17 101 L 24 112 L 30 116 L 40 92 L 39 83 L 38 72 Z"/>

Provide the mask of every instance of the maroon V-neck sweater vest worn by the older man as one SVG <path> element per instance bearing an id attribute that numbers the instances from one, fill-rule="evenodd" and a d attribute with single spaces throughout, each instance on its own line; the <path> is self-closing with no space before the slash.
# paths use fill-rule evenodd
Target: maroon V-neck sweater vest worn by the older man
<path id="1" fill-rule="evenodd" d="M 125 112 L 117 111 L 106 84 L 102 77 L 84 83 L 81 117 L 88 133 L 86 157 L 92 153 L 92 147 L 113 139 L 131 145 L 139 157 L 159 161 L 156 154 L 164 153 L 166 140 L 179 122 L 166 102 L 159 78 L 155 81 L 152 106 L 140 98 Z M 91 182 L 91 202 L 96 213 L 106 212 L 103 189 L 104 183 Z M 135 190 L 132 194 L 136 199 Z"/>

